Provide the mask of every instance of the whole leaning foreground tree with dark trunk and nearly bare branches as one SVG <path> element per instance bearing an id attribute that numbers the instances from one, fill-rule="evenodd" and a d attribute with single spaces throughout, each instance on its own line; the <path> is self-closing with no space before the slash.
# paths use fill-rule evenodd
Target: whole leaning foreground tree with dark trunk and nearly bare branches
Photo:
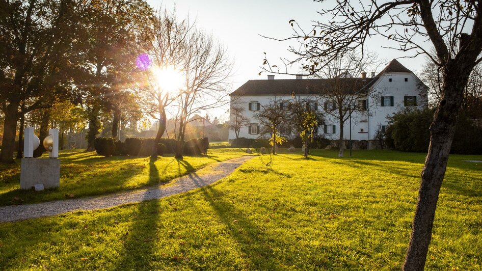
<path id="1" fill-rule="evenodd" d="M 482 61 L 482 1 L 317 2 L 324 8 L 318 12 L 322 18 L 312 28 L 305 31 L 290 20 L 294 34 L 278 39 L 301 43 L 290 47 L 296 55 L 290 63 L 302 63 L 305 70 L 316 73 L 347 52 L 364 51 L 365 41 L 378 35 L 393 44 L 389 48 L 412 57 L 424 54 L 442 71 L 441 99 L 430 127 L 430 147 L 403 265 L 405 270 L 422 270 L 465 87 L 470 72 Z"/>

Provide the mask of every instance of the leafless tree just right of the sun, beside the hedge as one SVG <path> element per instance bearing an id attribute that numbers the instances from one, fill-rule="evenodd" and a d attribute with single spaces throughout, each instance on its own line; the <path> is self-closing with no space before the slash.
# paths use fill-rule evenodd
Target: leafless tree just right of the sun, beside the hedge
<path id="1" fill-rule="evenodd" d="M 182 158 L 184 134 L 195 113 L 222 106 L 226 100 L 231 60 L 211 35 L 193 29 L 183 52 L 184 87 L 176 98 L 176 158 Z"/>

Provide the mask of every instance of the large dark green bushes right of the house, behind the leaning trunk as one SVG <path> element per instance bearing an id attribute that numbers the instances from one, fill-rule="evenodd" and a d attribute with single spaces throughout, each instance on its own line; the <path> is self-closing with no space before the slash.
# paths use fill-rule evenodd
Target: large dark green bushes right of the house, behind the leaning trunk
<path id="1" fill-rule="evenodd" d="M 389 117 L 385 137 L 389 148 L 400 151 L 426 152 L 430 143 L 430 125 L 434 110 L 405 110 Z M 451 153 L 482 153 L 482 129 L 464 115 L 459 117 L 452 141 Z"/>

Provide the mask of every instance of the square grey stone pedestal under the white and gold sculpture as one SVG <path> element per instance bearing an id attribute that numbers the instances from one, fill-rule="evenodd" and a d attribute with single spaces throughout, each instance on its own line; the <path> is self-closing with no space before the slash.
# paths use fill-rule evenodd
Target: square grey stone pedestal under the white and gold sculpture
<path id="1" fill-rule="evenodd" d="M 59 187 L 60 159 L 22 158 L 20 189 L 31 189 L 36 184 L 43 184 L 45 189 Z"/>

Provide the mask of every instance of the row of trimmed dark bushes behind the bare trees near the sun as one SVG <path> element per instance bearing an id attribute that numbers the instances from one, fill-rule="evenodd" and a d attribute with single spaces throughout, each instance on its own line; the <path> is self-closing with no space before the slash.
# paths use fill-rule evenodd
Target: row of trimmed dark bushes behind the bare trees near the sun
<path id="1" fill-rule="evenodd" d="M 103 156 L 150 156 L 155 139 L 127 138 L 125 142 L 114 141 L 112 138 L 96 138 L 94 148 L 97 154 Z M 192 139 L 184 142 L 183 154 L 200 155 L 206 152 L 209 143 L 205 139 Z M 157 155 L 172 154 L 176 150 L 176 140 L 160 139 L 157 144 Z"/>

